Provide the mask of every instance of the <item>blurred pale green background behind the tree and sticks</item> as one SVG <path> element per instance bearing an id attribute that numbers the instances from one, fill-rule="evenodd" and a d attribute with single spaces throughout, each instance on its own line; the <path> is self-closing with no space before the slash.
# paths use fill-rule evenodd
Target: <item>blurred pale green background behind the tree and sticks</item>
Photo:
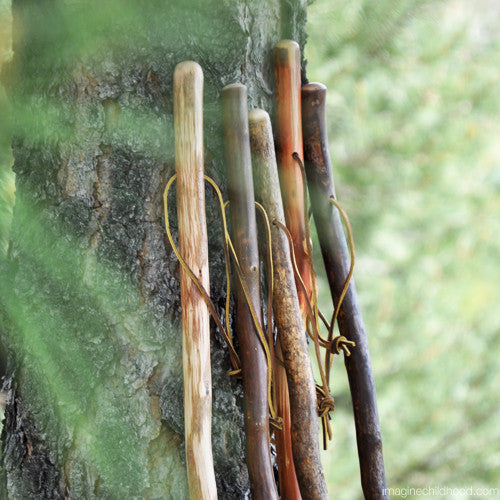
<path id="1" fill-rule="evenodd" d="M 0 63 L 9 8 L 0 0 Z M 316 0 L 308 33 L 308 77 L 329 89 L 337 195 L 354 230 L 388 486 L 498 488 L 500 2 Z M 11 165 L 0 86 L 3 255 Z M 321 290 L 327 312 L 324 280 Z M 336 363 L 323 458 L 332 495 L 354 499 L 355 432 Z"/>

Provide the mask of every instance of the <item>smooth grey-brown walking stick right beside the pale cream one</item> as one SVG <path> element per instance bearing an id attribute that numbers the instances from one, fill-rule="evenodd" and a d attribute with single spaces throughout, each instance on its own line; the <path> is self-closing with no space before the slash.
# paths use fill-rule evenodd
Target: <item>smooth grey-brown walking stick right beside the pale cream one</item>
<path id="1" fill-rule="evenodd" d="M 269 442 L 270 358 L 264 350 L 265 339 L 259 339 L 255 325 L 255 320 L 262 325 L 262 312 L 246 87 L 224 87 L 222 104 L 231 233 L 241 270 L 235 280 L 236 331 L 245 398 L 247 466 L 252 498 L 277 499 Z M 257 317 L 252 318 L 249 302 Z"/>

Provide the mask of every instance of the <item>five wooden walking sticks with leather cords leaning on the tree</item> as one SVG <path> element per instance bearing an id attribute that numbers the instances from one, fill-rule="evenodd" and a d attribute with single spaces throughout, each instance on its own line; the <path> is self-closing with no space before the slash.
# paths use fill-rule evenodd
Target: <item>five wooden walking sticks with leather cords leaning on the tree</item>
<path id="1" fill-rule="evenodd" d="M 222 90 L 225 163 L 231 231 L 224 250 L 236 305 L 239 354 L 209 297 L 203 162 L 203 72 L 192 61 L 174 74 L 174 126 L 185 399 L 186 463 L 193 499 L 217 498 L 211 447 L 210 314 L 227 340 L 233 373 L 244 390 L 246 458 L 254 499 L 325 499 L 318 416 L 330 433 L 330 365 L 345 352 L 354 408 L 361 482 L 366 498 L 385 498 L 382 445 L 366 333 L 352 277 L 354 249 L 347 244 L 334 190 L 325 124 L 326 88 L 301 86 L 298 44 L 273 50 L 274 133 L 266 111 L 248 113 L 247 89 Z M 173 181 L 174 179 L 172 179 Z M 210 181 L 213 185 L 213 181 Z M 322 336 L 309 232 L 307 192 L 330 292 L 332 321 Z M 263 224 L 258 231 L 257 216 Z M 348 221 L 346 221 L 348 225 Z M 263 229 L 262 229 L 263 228 Z M 259 245 L 259 242 L 261 244 Z M 265 255 L 267 286 L 261 286 Z M 263 291 L 267 291 L 267 320 Z M 322 317 L 322 316 L 321 316 Z M 334 337 L 338 320 L 339 335 Z M 265 328 L 267 326 L 267 331 Z M 277 332 L 274 335 L 273 326 Z M 318 360 L 316 384 L 308 335 Z M 320 348 L 326 353 L 320 356 Z M 352 351 L 352 354 L 351 354 Z M 325 438 L 326 439 L 326 438 Z M 276 450 L 276 485 L 271 450 Z"/>

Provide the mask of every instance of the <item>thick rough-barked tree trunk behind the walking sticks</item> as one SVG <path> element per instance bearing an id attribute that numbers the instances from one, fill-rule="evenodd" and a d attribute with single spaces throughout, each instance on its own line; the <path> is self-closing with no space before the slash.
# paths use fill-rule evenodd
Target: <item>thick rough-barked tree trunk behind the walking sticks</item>
<path id="1" fill-rule="evenodd" d="M 271 110 L 271 49 L 281 38 L 303 46 L 306 0 L 13 8 L 17 193 L 0 285 L 11 373 L 0 496 L 186 498 L 179 265 L 162 203 L 174 173 L 173 71 L 183 60 L 204 70 L 206 172 L 225 192 L 220 92 L 244 83 L 250 108 Z M 207 190 L 221 310 L 217 210 Z M 175 228 L 173 199 L 170 211 Z M 242 390 L 215 330 L 211 360 L 217 490 L 242 498 Z"/>

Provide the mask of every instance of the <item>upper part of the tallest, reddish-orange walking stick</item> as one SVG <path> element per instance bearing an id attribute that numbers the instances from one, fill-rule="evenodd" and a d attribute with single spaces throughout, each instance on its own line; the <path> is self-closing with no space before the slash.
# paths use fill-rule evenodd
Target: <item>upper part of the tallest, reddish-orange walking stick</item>
<path id="1" fill-rule="evenodd" d="M 274 134 L 286 225 L 292 235 L 295 260 L 307 296 L 312 293 L 312 269 L 307 255 L 304 180 L 293 154 L 302 159 L 302 119 L 300 107 L 300 48 L 296 42 L 282 40 L 273 50 L 276 107 Z M 306 297 L 297 286 L 302 317 L 306 318 Z"/>

